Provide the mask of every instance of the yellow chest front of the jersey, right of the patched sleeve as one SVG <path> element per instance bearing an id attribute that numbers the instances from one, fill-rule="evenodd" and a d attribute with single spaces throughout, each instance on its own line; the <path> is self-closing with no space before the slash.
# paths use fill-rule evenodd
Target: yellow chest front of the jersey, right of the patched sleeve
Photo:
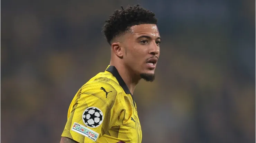
<path id="1" fill-rule="evenodd" d="M 119 141 L 125 143 L 141 143 L 142 132 L 136 103 L 131 95 L 123 96 L 118 104 L 119 111 L 118 120 L 115 122 L 108 132 L 99 139 L 99 143 Z"/>

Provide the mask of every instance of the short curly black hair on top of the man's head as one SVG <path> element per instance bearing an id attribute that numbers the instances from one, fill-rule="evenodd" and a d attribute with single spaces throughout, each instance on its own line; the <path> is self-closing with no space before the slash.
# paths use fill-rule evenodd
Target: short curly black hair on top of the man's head
<path id="1" fill-rule="evenodd" d="M 103 26 L 104 35 L 111 45 L 111 40 L 129 30 L 131 26 L 140 24 L 157 24 L 155 13 L 145 8 L 139 7 L 139 4 L 128 6 L 122 10 L 116 10 L 109 16 L 109 20 Z"/>

